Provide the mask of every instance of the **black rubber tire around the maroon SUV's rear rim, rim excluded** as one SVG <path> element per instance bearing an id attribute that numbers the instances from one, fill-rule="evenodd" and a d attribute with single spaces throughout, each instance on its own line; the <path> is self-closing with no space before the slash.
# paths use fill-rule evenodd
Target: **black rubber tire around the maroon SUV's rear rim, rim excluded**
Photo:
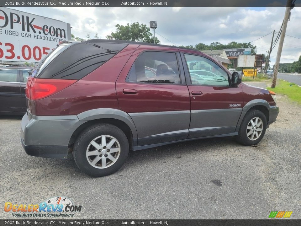
<path id="1" fill-rule="evenodd" d="M 99 136 L 108 135 L 116 138 L 120 144 L 120 153 L 114 164 L 108 166 L 107 168 L 95 168 L 88 162 L 86 152 L 90 142 Z M 105 148 L 106 149 L 106 148 Z M 129 142 L 124 132 L 122 132 L 118 127 L 107 124 L 99 123 L 87 127 L 80 135 L 77 137 L 73 148 L 73 157 L 78 168 L 82 170 L 85 174 L 93 177 L 101 177 L 114 173 L 119 170 L 119 168 L 124 164 L 126 158 L 129 154 Z M 94 156 L 93 156 L 94 157 Z M 92 157 L 92 158 L 93 158 Z M 95 156 L 96 158 L 97 156 Z M 108 160 L 110 161 L 110 160 Z M 102 160 L 100 161 L 102 162 Z"/>

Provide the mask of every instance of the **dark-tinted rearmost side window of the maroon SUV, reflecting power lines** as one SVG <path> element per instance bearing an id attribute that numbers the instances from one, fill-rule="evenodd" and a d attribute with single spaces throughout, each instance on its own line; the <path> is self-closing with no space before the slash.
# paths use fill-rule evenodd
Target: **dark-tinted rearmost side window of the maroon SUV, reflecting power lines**
<path id="1" fill-rule="evenodd" d="M 127 44 L 82 42 L 58 46 L 42 64 L 39 78 L 81 79 L 115 56 Z M 42 69 L 44 68 L 45 69 Z"/>

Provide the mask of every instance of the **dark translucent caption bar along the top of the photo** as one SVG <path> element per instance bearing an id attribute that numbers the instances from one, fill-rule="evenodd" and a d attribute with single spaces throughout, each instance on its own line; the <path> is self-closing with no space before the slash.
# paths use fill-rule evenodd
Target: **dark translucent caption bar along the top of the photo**
<path id="1" fill-rule="evenodd" d="M 0 0 L 4 7 L 284 7 L 286 0 Z"/>

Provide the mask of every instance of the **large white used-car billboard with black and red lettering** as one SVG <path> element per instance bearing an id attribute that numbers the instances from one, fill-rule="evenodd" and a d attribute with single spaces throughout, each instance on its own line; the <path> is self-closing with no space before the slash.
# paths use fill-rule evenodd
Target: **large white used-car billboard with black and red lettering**
<path id="1" fill-rule="evenodd" d="M 70 24 L 0 7 L 0 61 L 39 62 L 65 40 Z"/>

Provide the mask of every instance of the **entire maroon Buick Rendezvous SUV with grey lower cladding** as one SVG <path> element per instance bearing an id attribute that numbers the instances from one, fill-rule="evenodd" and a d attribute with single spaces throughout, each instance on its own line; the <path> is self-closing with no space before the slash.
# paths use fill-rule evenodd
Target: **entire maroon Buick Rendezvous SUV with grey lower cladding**
<path id="1" fill-rule="evenodd" d="M 278 107 L 199 51 L 117 40 L 62 42 L 26 84 L 21 141 L 29 155 L 66 158 L 109 175 L 140 150 L 207 137 L 261 141 Z"/>

